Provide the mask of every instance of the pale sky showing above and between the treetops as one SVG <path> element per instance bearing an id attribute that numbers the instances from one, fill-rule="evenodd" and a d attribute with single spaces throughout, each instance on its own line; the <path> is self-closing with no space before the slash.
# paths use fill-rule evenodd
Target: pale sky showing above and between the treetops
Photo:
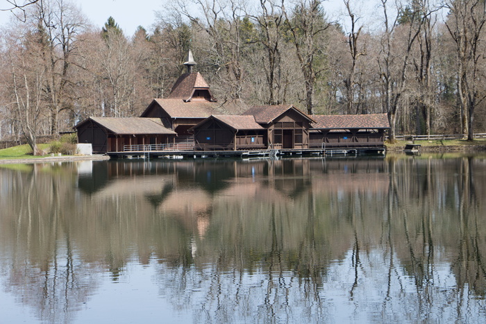
<path id="1" fill-rule="evenodd" d="M 23 0 L 17 0 L 17 3 L 22 3 Z M 115 18 L 115 22 L 120 26 L 127 36 L 133 35 L 137 26 L 143 26 L 148 31 L 151 31 L 153 23 L 156 21 L 155 12 L 164 12 L 167 8 L 167 3 L 171 0 L 71 0 L 78 3 L 81 11 L 94 24 L 94 26 L 101 28 L 108 17 Z M 365 14 L 365 12 L 376 12 L 377 0 L 355 0 L 351 1 L 353 6 L 356 6 L 361 15 L 372 17 L 373 14 Z M 6 0 L 0 0 L 0 9 L 9 8 Z M 328 13 L 328 17 L 332 20 L 337 20 L 342 17 L 344 6 L 342 0 L 327 0 L 323 3 L 324 9 Z M 0 11 L 0 25 L 6 24 L 11 12 Z M 376 16 L 375 16 L 376 19 Z M 371 19 L 369 19 L 371 21 Z M 363 24 L 364 22 L 362 22 Z M 367 22 L 369 23 L 369 22 Z"/>

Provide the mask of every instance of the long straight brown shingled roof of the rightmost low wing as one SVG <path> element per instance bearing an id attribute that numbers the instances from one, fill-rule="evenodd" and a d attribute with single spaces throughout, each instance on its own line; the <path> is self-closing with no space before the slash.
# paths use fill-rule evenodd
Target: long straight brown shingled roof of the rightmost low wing
<path id="1" fill-rule="evenodd" d="M 387 114 L 314 115 L 315 129 L 389 128 Z"/>

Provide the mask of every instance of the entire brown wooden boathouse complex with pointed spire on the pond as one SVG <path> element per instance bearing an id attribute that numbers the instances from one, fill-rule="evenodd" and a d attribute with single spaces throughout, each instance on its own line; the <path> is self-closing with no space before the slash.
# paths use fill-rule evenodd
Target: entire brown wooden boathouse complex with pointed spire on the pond
<path id="1" fill-rule="evenodd" d="M 312 115 L 294 105 L 218 103 L 189 52 L 187 73 L 166 99 L 140 117 L 90 117 L 75 126 L 79 143 L 113 157 L 324 155 L 384 152 L 386 114 Z"/>

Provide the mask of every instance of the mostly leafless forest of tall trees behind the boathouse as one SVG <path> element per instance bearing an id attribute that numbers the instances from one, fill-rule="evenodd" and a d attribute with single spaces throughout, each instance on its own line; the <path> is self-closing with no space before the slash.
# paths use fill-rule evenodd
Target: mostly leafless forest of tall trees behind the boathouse
<path id="1" fill-rule="evenodd" d="M 485 131 L 485 0 L 376 0 L 376 17 L 342 1 L 346 26 L 324 0 L 176 0 L 134 35 L 113 17 L 95 28 L 70 0 L 11 1 L 21 15 L 0 30 L 0 141 L 34 147 L 90 116 L 139 116 L 190 49 L 221 105 L 387 113 L 392 141 Z"/>

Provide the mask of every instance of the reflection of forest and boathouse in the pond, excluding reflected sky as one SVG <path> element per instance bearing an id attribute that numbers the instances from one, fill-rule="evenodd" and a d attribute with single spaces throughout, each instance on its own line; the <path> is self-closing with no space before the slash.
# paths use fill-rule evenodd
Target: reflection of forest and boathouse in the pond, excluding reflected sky
<path id="1" fill-rule="evenodd" d="M 273 300 L 268 293 L 258 300 L 263 313 L 275 312 L 277 300 L 285 309 L 290 289 L 320 300 L 335 281 L 347 282 L 336 273 L 343 265 L 350 281 L 340 290 L 349 300 L 364 298 L 365 282 L 379 268 L 383 307 L 396 306 L 390 300 L 403 294 L 396 282 L 411 280 L 415 290 L 406 295 L 426 313 L 435 300 L 450 298 L 437 289 L 438 267 L 449 269 L 458 291 L 485 297 L 484 170 L 484 160 L 471 157 L 0 169 L 0 266 L 8 286 L 47 321 L 58 321 L 49 316 L 60 309 L 76 312 L 96 293 L 103 271 L 119 280 L 134 259 L 160 264 L 160 289 L 177 298 L 187 292 L 167 282 L 170 269 L 236 282 L 219 290 L 226 297 L 245 289 L 242 274 L 259 273 L 266 286 L 259 289 L 274 292 Z M 208 302 L 220 300 L 206 288 Z M 324 300 L 315 305 L 312 312 L 326 312 Z"/>

